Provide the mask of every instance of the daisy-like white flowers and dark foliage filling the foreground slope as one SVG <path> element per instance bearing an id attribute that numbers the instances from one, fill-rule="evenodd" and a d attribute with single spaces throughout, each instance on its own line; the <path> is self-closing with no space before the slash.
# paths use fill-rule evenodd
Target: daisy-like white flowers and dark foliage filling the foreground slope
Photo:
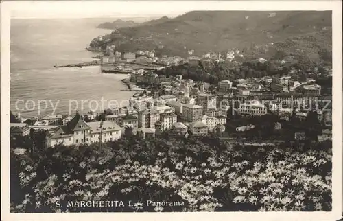
<path id="1" fill-rule="evenodd" d="M 331 156 L 331 147 L 319 144 L 252 148 L 215 137 L 122 138 L 102 152 L 96 144 L 58 146 L 36 158 L 11 154 L 11 209 L 331 211 Z M 126 203 L 67 206 L 82 200 Z"/>

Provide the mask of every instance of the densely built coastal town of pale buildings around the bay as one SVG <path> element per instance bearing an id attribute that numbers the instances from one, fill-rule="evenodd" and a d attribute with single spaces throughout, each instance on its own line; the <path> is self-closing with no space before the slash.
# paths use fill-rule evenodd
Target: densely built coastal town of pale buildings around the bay
<path id="1" fill-rule="evenodd" d="M 292 73 L 300 70 L 292 68 L 282 76 L 225 79 L 211 84 L 185 78 L 187 75 L 180 71 L 165 74 L 163 70 L 180 65 L 196 66 L 200 62 L 237 65 L 234 58 L 242 58 L 244 54 L 235 49 L 228 51 L 225 58 L 214 52 L 200 58 L 193 56 L 194 51 L 190 50 L 188 58 L 165 55 L 158 58 L 154 53 L 154 50 L 136 51 L 122 56 L 112 45 L 100 58 L 104 73 L 130 73 L 130 78 L 123 82 L 137 93 L 130 99 L 129 106 L 99 113 L 47 115 L 34 119 L 23 119 L 20 113 L 13 113 L 16 123 L 11 122 L 11 136 L 25 137 L 32 129 L 45 130 L 46 148 L 60 143 L 69 146 L 115 141 L 128 130 L 143 139 L 169 131 L 182 137 L 216 134 L 235 142 L 248 139 L 245 143 L 250 145 L 252 137 L 259 145 L 264 140 L 276 143 L 289 139 L 331 139 L 332 89 L 327 84 L 332 77 L 331 67 L 321 68 L 321 73 L 314 67 L 311 78 L 294 79 Z M 257 58 L 255 62 L 263 65 L 268 61 Z M 281 60 L 280 64 L 287 62 Z M 318 85 L 323 81 L 324 84 Z M 311 121 L 311 127 L 318 129 L 314 135 L 308 132 L 309 124 L 303 124 L 305 121 Z"/>

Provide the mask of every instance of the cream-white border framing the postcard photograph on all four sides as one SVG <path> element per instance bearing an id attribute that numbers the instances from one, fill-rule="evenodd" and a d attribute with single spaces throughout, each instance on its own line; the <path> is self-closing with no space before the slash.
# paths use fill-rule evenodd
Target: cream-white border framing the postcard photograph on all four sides
<path id="1" fill-rule="evenodd" d="M 10 14 L 32 17 L 175 15 L 190 10 L 333 11 L 333 211 L 220 213 L 9 213 Z M 181 9 L 181 10 L 180 10 Z M 20 13 L 18 13 L 20 12 Z M 21 13 L 25 12 L 25 13 Z M 60 12 L 60 15 L 56 14 Z M 97 13 L 97 14 L 96 14 Z M 161 14 L 165 13 L 165 14 Z M 96 14 L 96 15 L 95 15 Z M 80 16 L 80 14 L 78 14 Z M 338 220 L 342 218 L 342 1 L 2 1 L 1 2 L 1 218 L 2 220 Z"/>

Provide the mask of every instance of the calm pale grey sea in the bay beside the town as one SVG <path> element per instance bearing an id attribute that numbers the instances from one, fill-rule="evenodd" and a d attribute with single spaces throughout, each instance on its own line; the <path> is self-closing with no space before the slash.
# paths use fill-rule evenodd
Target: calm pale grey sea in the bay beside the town
<path id="1" fill-rule="evenodd" d="M 97 53 L 85 47 L 111 30 L 96 26 L 108 19 L 12 19 L 10 108 L 21 117 L 101 112 L 126 106 L 134 94 L 121 80 L 128 75 L 102 73 L 99 66 L 55 68 L 89 62 Z"/>

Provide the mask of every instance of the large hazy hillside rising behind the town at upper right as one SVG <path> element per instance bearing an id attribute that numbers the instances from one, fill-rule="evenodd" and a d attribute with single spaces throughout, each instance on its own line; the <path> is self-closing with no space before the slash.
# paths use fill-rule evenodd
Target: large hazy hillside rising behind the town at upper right
<path id="1" fill-rule="evenodd" d="M 296 48 L 300 56 L 314 59 L 318 59 L 319 51 L 331 51 L 332 45 L 329 11 L 194 11 L 158 20 L 119 28 L 104 36 L 108 39 L 106 44 L 115 44 L 121 51 L 156 49 L 157 54 L 169 56 L 187 56 L 189 49 L 201 56 L 209 51 L 234 48 L 270 56 L 280 49 L 294 54 Z M 106 45 L 96 41 L 91 44 Z M 163 45 L 163 49 L 158 49 L 158 45 Z"/>

